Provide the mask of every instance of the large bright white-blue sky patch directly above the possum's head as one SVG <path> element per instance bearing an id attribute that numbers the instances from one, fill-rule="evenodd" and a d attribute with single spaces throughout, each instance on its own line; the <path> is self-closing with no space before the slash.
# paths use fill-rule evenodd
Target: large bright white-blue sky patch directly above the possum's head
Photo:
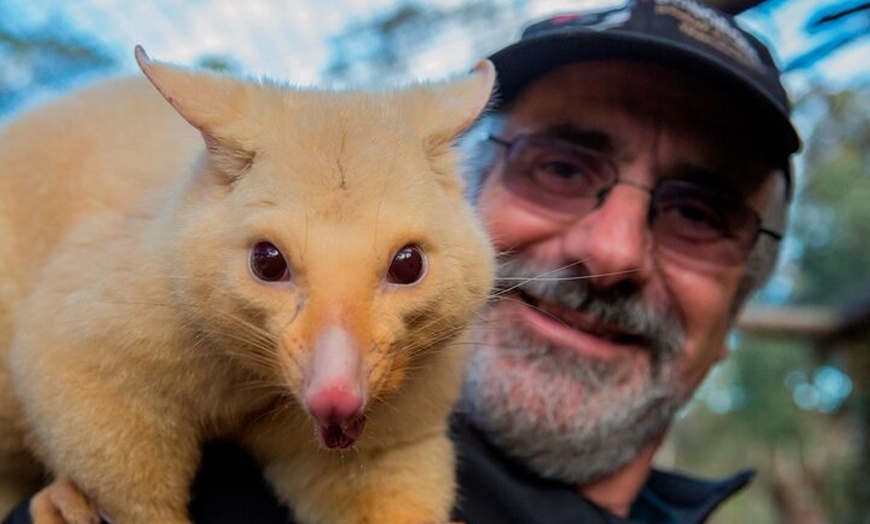
<path id="1" fill-rule="evenodd" d="M 135 70 L 133 47 L 161 60 L 192 64 L 228 55 L 246 73 L 314 83 L 328 59 L 325 42 L 396 0 L 11 0 L 22 24 L 68 24 Z M 438 5 L 458 2 L 438 2 Z"/>

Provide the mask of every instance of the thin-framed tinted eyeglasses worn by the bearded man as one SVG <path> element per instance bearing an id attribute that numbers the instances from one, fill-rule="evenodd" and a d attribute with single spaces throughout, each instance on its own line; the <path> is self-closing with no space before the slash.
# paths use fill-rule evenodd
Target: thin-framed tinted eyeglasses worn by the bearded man
<path id="1" fill-rule="evenodd" d="M 647 219 L 656 244 L 683 256 L 736 265 L 745 262 L 759 235 L 782 238 L 762 227 L 755 210 L 712 188 L 679 178 L 652 188 L 620 180 L 610 157 L 552 135 L 488 138 L 505 148 L 505 186 L 542 213 L 582 217 L 617 184 L 629 184 L 650 194 Z"/>

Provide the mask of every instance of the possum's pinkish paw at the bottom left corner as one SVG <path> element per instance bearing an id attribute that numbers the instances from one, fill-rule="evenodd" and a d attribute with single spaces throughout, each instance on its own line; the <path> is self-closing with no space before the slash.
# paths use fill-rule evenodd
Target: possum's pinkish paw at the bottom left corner
<path id="1" fill-rule="evenodd" d="M 33 524 L 100 524 L 91 501 L 69 479 L 57 478 L 30 501 Z"/>

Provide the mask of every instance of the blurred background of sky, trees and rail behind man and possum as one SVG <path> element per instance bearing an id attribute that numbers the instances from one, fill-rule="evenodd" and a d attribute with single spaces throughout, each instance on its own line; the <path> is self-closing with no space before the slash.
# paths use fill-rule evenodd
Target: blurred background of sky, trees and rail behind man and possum
<path id="1" fill-rule="evenodd" d="M 159 60 L 296 84 L 403 83 L 467 71 L 531 19 L 619 3 L 0 0 L 0 119 L 135 73 L 136 44 Z M 771 46 L 804 148 L 779 270 L 657 460 L 701 476 L 758 469 L 716 524 L 867 524 L 870 3 L 708 3 L 740 13 Z"/>

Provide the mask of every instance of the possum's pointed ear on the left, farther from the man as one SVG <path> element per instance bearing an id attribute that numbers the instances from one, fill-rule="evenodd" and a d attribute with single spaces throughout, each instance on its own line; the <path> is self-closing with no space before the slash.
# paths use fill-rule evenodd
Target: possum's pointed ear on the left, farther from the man
<path id="1" fill-rule="evenodd" d="M 211 163 L 235 179 L 253 163 L 254 153 L 242 143 L 234 124 L 250 107 L 250 89 L 228 76 L 187 69 L 151 60 L 136 46 L 136 62 L 172 107 L 199 130 Z"/>

